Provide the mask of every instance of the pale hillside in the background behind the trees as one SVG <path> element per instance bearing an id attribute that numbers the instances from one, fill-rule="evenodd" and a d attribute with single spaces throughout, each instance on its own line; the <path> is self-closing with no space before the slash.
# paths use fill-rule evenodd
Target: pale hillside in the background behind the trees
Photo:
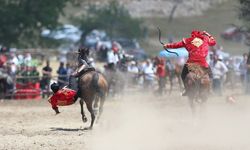
<path id="1" fill-rule="evenodd" d="M 101 2 L 102 3 L 101 3 Z M 107 0 L 90 0 L 89 3 L 103 5 Z M 172 22 L 168 22 L 169 12 L 173 5 L 178 5 Z M 158 42 L 157 27 L 162 30 L 162 38 L 172 36 L 175 40 L 188 36 L 193 29 L 207 30 L 213 34 L 218 45 L 232 54 L 242 54 L 248 48 L 242 43 L 225 41 L 220 37 L 230 24 L 241 24 L 238 20 L 237 0 L 121 0 L 134 17 L 142 17 L 144 25 L 149 29 L 148 38 L 141 44 L 150 54 L 155 55 L 162 49 Z M 62 22 L 70 23 L 67 17 L 79 16 L 87 8 L 88 2 L 80 3 L 79 7 L 68 6 L 66 17 Z M 151 12 L 151 13 L 150 13 Z"/>

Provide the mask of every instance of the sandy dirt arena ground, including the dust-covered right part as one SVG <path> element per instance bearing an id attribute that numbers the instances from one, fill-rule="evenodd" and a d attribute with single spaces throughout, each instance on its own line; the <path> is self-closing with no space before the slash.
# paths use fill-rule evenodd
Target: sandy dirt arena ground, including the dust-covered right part
<path id="1" fill-rule="evenodd" d="M 79 104 L 55 115 L 46 100 L 0 102 L 0 149 L 249 150 L 250 96 L 212 97 L 193 116 L 179 93 L 126 92 L 107 99 L 91 131 L 83 130 Z"/>

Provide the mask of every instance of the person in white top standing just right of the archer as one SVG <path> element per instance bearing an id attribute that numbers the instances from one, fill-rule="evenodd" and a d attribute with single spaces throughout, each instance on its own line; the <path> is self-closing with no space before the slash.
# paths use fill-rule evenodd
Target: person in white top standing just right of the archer
<path id="1" fill-rule="evenodd" d="M 222 95 L 223 76 L 228 71 L 226 65 L 222 62 L 222 59 L 222 56 L 215 55 L 214 64 L 212 66 L 213 90 L 219 96 Z"/>

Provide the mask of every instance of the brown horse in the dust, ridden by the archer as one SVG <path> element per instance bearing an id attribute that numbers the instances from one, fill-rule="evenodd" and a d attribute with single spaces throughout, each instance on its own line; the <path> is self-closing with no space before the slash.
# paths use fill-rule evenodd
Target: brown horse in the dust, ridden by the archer
<path id="1" fill-rule="evenodd" d="M 189 73 L 185 79 L 185 84 L 192 112 L 195 113 L 196 103 L 203 104 L 207 101 L 211 81 L 206 68 L 190 63 L 188 64 L 188 70 Z"/>

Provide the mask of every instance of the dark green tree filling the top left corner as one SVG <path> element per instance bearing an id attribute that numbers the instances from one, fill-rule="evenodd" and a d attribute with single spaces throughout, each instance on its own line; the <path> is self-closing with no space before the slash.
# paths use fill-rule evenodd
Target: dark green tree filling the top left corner
<path id="1" fill-rule="evenodd" d="M 44 39 L 43 28 L 55 28 L 63 8 L 70 0 L 1 0 L 0 44 L 37 46 Z"/>

